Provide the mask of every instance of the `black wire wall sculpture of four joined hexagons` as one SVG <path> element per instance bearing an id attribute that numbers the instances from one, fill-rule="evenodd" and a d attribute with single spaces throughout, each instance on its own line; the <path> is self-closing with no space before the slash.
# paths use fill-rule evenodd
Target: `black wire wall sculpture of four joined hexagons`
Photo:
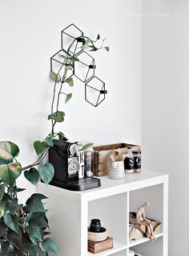
<path id="1" fill-rule="evenodd" d="M 85 100 L 98 106 L 107 94 L 105 83 L 94 76 L 96 65 L 94 58 L 83 50 L 82 44 L 87 38 L 73 23 L 61 32 L 61 50 L 50 58 L 50 71 L 59 74 L 61 83 L 75 76 L 85 83 Z M 65 63 L 65 57 L 66 63 Z"/>

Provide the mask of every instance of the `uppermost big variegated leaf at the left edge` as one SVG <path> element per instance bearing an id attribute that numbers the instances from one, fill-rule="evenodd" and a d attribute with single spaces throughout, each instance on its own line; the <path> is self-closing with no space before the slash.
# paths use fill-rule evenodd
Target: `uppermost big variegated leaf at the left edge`
<path id="1" fill-rule="evenodd" d="M 13 142 L 0 142 L 0 164 L 11 163 L 19 154 L 19 148 Z"/>

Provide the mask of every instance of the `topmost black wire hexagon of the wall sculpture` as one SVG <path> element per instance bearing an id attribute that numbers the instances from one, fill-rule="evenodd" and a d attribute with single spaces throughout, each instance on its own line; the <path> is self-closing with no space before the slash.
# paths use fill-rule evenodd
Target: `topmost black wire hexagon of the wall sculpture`
<path id="1" fill-rule="evenodd" d="M 61 45 L 64 52 L 76 55 L 82 52 L 83 33 L 74 24 L 62 30 Z"/>

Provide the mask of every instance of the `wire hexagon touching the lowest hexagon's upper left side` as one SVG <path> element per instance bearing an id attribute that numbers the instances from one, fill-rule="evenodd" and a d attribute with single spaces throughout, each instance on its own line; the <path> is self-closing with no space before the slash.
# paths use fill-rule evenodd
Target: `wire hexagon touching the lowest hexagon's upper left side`
<path id="1" fill-rule="evenodd" d="M 85 83 L 94 76 L 94 58 L 87 52 L 80 52 L 76 57 L 78 61 L 74 62 L 74 76 Z"/>

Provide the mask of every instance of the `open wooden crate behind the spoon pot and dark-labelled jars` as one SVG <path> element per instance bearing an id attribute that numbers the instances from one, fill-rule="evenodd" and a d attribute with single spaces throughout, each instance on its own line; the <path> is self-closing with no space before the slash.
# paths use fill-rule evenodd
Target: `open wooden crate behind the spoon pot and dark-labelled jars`
<path id="1" fill-rule="evenodd" d="M 117 143 L 111 145 L 104 145 L 99 147 L 93 147 L 94 159 L 93 159 L 93 173 L 95 176 L 108 175 L 108 168 L 110 164 L 109 156 L 112 151 L 120 148 L 123 154 L 127 153 L 127 147 L 131 146 L 133 150 L 139 150 L 139 145 L 128 144 L 128 143 Z"/>

